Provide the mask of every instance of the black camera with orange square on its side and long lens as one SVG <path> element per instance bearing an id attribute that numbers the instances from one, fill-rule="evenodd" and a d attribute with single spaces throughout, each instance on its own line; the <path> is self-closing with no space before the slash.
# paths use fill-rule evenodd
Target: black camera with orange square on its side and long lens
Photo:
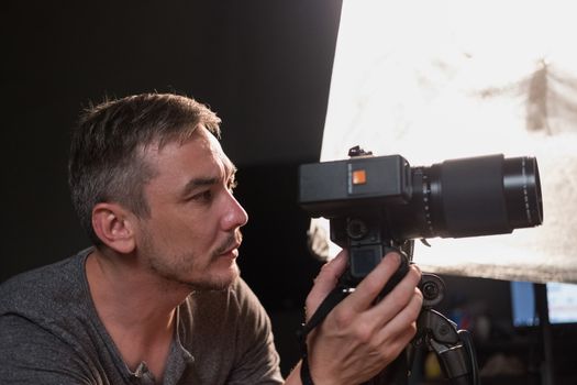
<path id="1" fill-rule="evenodd" d="M 299 204 L 330 221 L 331 240 L 349 253 L 345 283 L 355 286 L 390 250 L 412 257 L 413 240 L 511 233 L 542 223 L 534 157 L 502 154 L 411 167 L 401 155 L 303 164 Z"/>

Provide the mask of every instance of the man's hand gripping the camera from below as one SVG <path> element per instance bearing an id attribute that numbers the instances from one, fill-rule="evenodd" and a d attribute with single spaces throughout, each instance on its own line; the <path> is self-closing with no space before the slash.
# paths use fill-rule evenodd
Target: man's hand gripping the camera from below
<path id="1" fill-rule="evenodd" d="M 343 251 L 323 266 L 307 298 L 307 320 L 335 287 L 346 263 Z M 309 366 L 315 385 L 363 383 L 390 364 L 414 337 L 422 306 L 417 266 L 375 304 L 399 264 L 397 253 L 387 254 L 309 334 Z"/>

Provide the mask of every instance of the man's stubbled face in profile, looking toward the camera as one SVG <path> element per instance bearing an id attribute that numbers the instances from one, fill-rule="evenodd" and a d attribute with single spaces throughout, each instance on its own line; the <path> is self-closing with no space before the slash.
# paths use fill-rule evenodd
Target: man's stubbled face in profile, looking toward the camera
<path id="1" fill-rule="evenodd" d="M 204 128 L 184 144 L 144 152 L 156 175 L 144 194 L 151 217 L 138 221 L 137 253 L 157 275 L 219 289 L 238 277 L 240 228 L 248 217 L 232 195 L 235 168 Z"/>

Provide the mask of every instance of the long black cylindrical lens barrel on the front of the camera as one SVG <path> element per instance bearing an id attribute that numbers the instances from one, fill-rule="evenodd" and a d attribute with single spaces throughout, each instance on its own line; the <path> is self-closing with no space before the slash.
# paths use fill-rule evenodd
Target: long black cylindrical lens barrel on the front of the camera
<path id="1" fill-rule="evenodd" d="M 543 221 L 534 157 L 488 155 L 411 170 L 409 205 L 387 208 L 397 239 L 503 234 Z"/>

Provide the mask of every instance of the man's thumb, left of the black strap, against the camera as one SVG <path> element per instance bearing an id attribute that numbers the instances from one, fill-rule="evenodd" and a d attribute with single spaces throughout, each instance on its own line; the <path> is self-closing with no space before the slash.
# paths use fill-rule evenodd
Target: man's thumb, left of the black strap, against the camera
<path id="1" fill-rule="evenodd" d="M 339 278 L 346 268 L 347 260 L 347 253 L 343 250 L 322 266 L 319 275 L 314 278 L 314 286 L 307 297 L 307 320 L 317 311 L 321 301 L 335 288 Z"/>

